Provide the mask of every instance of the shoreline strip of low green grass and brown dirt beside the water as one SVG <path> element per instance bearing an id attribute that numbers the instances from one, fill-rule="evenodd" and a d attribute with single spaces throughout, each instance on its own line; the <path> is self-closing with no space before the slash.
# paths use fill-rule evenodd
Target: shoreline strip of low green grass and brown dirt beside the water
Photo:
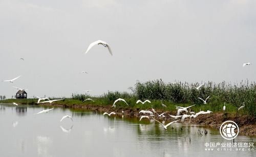
<path id="1" fill-rule="evenodd" d="M 140 117 L 142 114 L 139 114 L 141 109 L 144 110 L 151 110 L 152 106 L 158 113 L 163 113 L 167 111 L 165 118 L 156 117 L 158 120 L 165 120 L 165 121 L 174 121 L 173 118 L 170 118 L 167 114 L 176 115 L 176 106 L 190 106 L 191 104 L 176 104 L 171 103 L 168 101 L 163 101 L 163 103 L 167 106 L 166 108 L 161 105 L 160 100 L 152 100 L 151 104 L 136 104 L 136 100 L 134 98 L 126 99 L 129 106 L 127 106 L 124 102 L 117 102 L 116 108 L 112 107 L 112 103 L 108 103 L 103 101 L 102 98 L 94 98 L 95 102 L 88 101 L 82 102 L 80 100 L 66 98 L 65 100 L 53 102 L 52 104 L 37 104 L 37 99 L 7 99 L 2 100 L 0 103 L 12 103 L 16 102 L 18 104 L 29 104 L 29 105 L 40 105 L 40 106 L 58 106 L 58 107 L 68 107 L 71 109 L 87 109 L 87 110 L 94 110 L 100 113 L 105 111 L 111 112 L 115 111 L 117 116 L 122 116 L 122 111 L 124 111 L 125 117 Z M 222 104 L 218 105 L 212 104 L 196 104 L 195 106 L 191 107 L 193 111 L 196 113 L 201 110 L 211 110 L 213 111 L 212 114 L 200 115 L 196 119 L 191 119 L 190 124 L 200 124 L 200 125 L 207 125 L 215 129 L 219 129 L 220 125 L 226 120 L 232 120 L 239 125 L 240 134 L 244 134 L 247 136 L 256 136 L 256 119 L 253 116 L 247 115 L 245 112 L 237 113 L 237 108 L 232 106 L 231 104 L 226 104 L 226 111 L 221 109 Z M 221 111 L 222 110 L 222 111 Z M 188 123 L 189 119 L 185 120 L 185 123 Z"/>

